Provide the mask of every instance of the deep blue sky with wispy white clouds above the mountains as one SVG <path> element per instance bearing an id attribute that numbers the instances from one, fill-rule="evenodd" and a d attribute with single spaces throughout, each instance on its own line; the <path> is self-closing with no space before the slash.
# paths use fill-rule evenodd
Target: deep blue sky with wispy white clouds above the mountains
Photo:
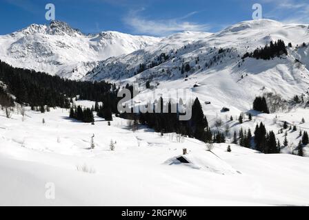
<path id="1" fill-rule="evenodd" d="M 308 1 L 308 0 L 306 0 Z M 84 33 L 115 30 L 129 34 L 166 36 L 183 30 L 217 32 L 252 19 L 253 3 L 263 6 L 263 18 L 309 23 L 304 0 L 0 0 L 0 34 L 32 23 L 49 23 L 45 5 L 54 3 L 56 19 Z"/>

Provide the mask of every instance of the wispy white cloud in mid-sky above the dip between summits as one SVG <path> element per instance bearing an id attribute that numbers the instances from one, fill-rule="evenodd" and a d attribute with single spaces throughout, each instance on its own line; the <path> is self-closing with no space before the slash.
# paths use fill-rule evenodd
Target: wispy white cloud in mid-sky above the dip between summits
<path id="1" fill-rule="evenodd" d="M 210 25 L 193 23 L 190 21 L 185 21 L 192 17 L 192 15 L 197 14 L 198 12 L 190 12 L 183 17 L 174 18 L 174 19 L 161 19 L 161 20 L 152 20 L 141 17 L 139 12 L 145 10 L 131 11 L 128 16 L 123 20 L 124 22 L 132 28 L 133 32 L 137 34 L 151 34 L 155 36 L 166 36 L 175 32 L 182 31 L 207 31 L 210 29 Z"/>

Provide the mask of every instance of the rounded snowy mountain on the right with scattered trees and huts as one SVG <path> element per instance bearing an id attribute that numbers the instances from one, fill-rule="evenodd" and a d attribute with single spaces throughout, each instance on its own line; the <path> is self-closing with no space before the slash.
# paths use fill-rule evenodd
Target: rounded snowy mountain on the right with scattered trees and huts
<path id="1" fill-rule="evenodd" d="M 279 39 L 292 44 L 288 56 L 269 61 L 242 59 L 246 52 Z M 265 92 L 286 99 L 306 94 L 309 49 L 303 43 L 308 42 L 308 25 L 244 21 L 215 34 L 174 34 L 132 54 L 102 61 L 83 79 L 139 82 L 141 87 L 149 80 L 159 89 L 192 89 L 201 100 L 212 102 L 205 107 L 210 114 L 223 106 L 238 114 L 251 109 L 254 98 Z M 186 65 L 190 65 L 188 72 L 182 70 Z M 197 83 L 200 87 L 193 88 Z M 146 101 L 148 92 L 144 90 L 139 98 Z"/>

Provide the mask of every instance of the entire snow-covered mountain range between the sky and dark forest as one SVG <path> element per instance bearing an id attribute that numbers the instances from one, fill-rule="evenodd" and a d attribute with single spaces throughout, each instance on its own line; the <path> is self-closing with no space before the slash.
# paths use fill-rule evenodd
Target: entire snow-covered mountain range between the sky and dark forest
<path id="1" fill-rule="evenodd" d="M 243 58 L 279 39 L 288 55 L 268 61 Z M 211 114 L 223 106 L 247 111 L 257 95 L 269 92 L 286 99 L 308 96 L 308 44 L 308 25 L 268 19 L 243 21 L 217 33 L 163 38 L 119 32 L 86 35 L 53 21 L 0 36 L 0 59 L 75 80 L 137 82 L 143 89 L 139 102 L 150 92 L 147 81 L 159 89 L 190 88 L 203 102 L 212 103 Z"/>

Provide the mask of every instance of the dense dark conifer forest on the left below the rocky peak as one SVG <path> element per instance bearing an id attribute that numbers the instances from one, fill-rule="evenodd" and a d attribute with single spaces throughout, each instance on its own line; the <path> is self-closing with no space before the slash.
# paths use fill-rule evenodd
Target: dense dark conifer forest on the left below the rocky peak
<path id="1" fill-rule="evenodd" d="M 107 103 L 113 113 L 117 111 L 118 88 L 104 81 L 92 83 L 66 80 L 59 76 L 14 68 L 1 61 L 0 81 L 7 86 L 6 93 L 3 93 L 3 89 L 0 90 L 1 100 L 6 94 L 12 94 L 16 97 L 16 102 L 31 107 L 47 105 L 68 109 L 71 98 L 79 95 L 80 99 Z M 12 103 L 8 97 L 5 100 Z"/>

